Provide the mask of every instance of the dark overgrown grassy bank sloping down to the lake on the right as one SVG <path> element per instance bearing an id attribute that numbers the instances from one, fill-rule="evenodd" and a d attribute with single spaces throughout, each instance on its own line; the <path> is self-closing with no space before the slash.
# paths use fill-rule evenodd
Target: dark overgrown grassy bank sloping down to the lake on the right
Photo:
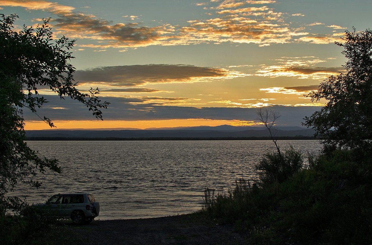
<path id="1" fill-rule="evenodd" d="M 239 179 L 234 189 L 207 189 L 204 211 L 219 223 L 235 223 L 258 244 L 370 244 L 370 156 L 334 151 L 310 157 L 308 166 L 281 181 Z"/>

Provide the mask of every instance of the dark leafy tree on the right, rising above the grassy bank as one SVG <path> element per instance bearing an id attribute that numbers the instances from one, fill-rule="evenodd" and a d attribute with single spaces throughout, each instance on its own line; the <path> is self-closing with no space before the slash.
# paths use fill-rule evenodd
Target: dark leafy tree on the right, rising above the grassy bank
<path id="1" fill-rule="evenodd" d="M 346 73 L 325 79 L 317 91 L 308 94 L 312 101 L 326 99 L 327 104 L 305 117 L 324 140 L 325 151 L 337 148 L 372 149 L 372 31 L 358 34 L 346 31 L 342 54 L 347 58 Z"/>

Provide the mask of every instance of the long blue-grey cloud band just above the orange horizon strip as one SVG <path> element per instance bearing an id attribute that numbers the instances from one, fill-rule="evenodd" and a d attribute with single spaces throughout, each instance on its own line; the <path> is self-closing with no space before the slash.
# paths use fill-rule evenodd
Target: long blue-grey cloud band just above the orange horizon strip
<path id="1" fill-rule="evenodd" d="M 52 95 L 44 97 L 49 103 L 45 104 L 45 108 L 38 110 L 39 115 L 45 115 L 51 120 L 94 120 L 93 115 L 81 103 L 70 99 L 60 101 L 58 96 Z M 141 104 L 140 102 L 143 100 L 134 98 L 105 97 L 101 99 L 111 102 L 110 107 L 103 111 L 104 120 L 137 121 L 192 118 L 254 121 L 257 117 L 256 108 L 164 106 L 151 103 Z M 278 105 L 271 106 L 271 108 L 278 109 L 282 115 L 278 124 L 291 126 L 301 126 L 302 118 L 320 109 L 317 106 Z M 28 109 L 24 111 L 24 116 L 29 121 L 38 120 L 36 115 Z"/>

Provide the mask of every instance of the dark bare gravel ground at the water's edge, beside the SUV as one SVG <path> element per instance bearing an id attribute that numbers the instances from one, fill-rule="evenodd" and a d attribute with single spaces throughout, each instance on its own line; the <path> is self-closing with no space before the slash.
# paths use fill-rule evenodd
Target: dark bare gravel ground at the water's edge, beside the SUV
<path id="1" fill-rule="evenodd" d="M 69 225 L 71 242 L 83 244 L 247 244 L 233 225 L 207 224 L 189 215 L 152 219 L 94 220 Z"/>

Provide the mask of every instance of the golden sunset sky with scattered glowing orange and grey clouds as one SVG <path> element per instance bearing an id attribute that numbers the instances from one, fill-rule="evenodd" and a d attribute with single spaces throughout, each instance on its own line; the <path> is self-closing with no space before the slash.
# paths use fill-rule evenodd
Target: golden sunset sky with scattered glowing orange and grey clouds
<path id="1" fill-rule="evenodd" d="M 51 18 L 76 39 L 78 88 L 110 102 L 97 121 L 48 90 L 40 109 L 57 128 L 254 125 L 260 106 L 301 126 L 324 103 L 304 98 L 343 71 L 344 31 L 372 27 L 371 0 L 0 0 L 16 29 Z M 25 110 L 26 130 L 48 125 Z"/>

